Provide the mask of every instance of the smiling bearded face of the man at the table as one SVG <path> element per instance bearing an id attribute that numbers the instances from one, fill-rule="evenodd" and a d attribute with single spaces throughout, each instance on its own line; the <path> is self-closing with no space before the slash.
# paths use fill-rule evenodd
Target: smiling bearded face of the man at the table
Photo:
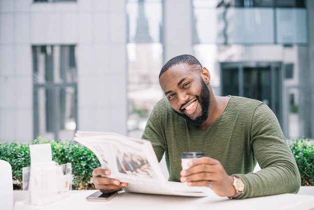
<path id="1" fill-rule="evenodd" d="M 160 77 L 172 109 L 196 126 L 208 118 L 210 92 L 202 76 L 202 73 L 190 70 L 187 65 L 179 64 Z"/>

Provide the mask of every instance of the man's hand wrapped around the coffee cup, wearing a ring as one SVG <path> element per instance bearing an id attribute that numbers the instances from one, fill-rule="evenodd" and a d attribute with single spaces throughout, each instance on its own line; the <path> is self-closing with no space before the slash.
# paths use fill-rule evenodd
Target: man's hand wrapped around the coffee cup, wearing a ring
<path id="1" fill-rule="evenodd" d="M 209 186 L 219 196 L 231 197 L 235 194 L 232 185 L 233 177 L 229 176 L 221 163 L 210 157 L 201 157 L 188 163 L 187 170 L 181 171 L 181 182 L 187 182 L 189 186 Z"/>

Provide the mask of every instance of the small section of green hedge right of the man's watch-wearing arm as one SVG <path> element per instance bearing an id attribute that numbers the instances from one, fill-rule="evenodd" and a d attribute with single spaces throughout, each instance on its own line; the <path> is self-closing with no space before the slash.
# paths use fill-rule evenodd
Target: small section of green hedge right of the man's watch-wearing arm
<path id="1" fill-rule="evenodd" d="M 314 186 L 314 143 L 309 139 L 290 139 L 288 141 L 299 168 L 302 186 Z"/>

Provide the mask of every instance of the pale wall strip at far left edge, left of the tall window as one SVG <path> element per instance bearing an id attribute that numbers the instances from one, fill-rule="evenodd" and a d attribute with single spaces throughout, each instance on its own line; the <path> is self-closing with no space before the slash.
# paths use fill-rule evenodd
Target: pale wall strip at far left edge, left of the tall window
<path id="1" fill-rule="evenodd" d="M 29 8 L 29 1 L 0 1 L 0 141 L 33 134 Z"/>

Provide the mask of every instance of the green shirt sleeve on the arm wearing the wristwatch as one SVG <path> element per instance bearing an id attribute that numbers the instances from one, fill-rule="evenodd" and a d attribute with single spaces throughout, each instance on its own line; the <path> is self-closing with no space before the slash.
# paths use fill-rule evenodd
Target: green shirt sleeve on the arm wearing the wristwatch
<path id="1" fill-rule="evenodd" d="M 301 180 L 296 162 L 276 116 L 266 104 L 259 104 L 254 111 L 250 144 L 261 170 L 233 174 L 245 185 L 238 198 L 298 192 Z"/>

